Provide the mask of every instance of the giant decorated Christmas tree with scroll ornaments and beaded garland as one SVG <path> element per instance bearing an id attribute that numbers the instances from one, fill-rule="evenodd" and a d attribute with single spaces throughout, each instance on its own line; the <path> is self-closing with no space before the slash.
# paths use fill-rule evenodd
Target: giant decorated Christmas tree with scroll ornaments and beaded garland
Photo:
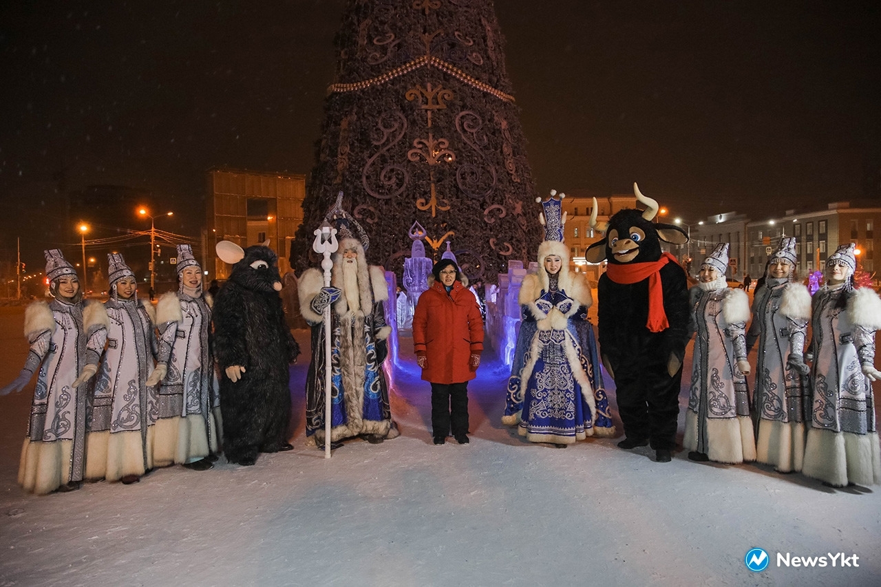
<path id="1" fill-rule="evenodd" d="M 367 257 L 400 277 L 414 222 L 426 256 L 447 241 L 471 279 L 535 255 L 535 184 L 503 39 L 488 0 L 350 0 L 336 82 L 292 243 L 298 271 L 337 193 L 370 237 Z"/>

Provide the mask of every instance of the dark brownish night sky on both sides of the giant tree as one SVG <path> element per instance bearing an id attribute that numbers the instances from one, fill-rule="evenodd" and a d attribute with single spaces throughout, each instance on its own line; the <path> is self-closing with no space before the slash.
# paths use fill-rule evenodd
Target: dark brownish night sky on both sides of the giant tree
<path id="1" fill-rule="evenodd" d="M 206 169 L 308 174 L 343 6 L 4 3 L 2 245 L 27 238 L 24 215 L 61 218 L 60 181 L 152 192 L 178 212 L 167 229 L 197 234 Z M 863 197 L 877 175 L 877 2 L 495 6 L 541 193 L 637 181 L 686 220 L 760 218 Z"/>

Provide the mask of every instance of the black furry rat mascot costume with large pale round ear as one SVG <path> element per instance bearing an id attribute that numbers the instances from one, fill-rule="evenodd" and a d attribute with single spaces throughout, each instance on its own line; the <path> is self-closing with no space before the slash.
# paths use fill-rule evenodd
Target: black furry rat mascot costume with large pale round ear
<path id="1" fill-rule="evenodd" d="M 214 356 L 220 375 L 223 446 L 230 463 L 255 464 L 258 452 L 291 450 L 288 365 L 300 354 L 285 322 L 278 256 L 266 246 L 242 250 L 220 241 L 218 256 L 233 265 L 214 303 Z"/>

